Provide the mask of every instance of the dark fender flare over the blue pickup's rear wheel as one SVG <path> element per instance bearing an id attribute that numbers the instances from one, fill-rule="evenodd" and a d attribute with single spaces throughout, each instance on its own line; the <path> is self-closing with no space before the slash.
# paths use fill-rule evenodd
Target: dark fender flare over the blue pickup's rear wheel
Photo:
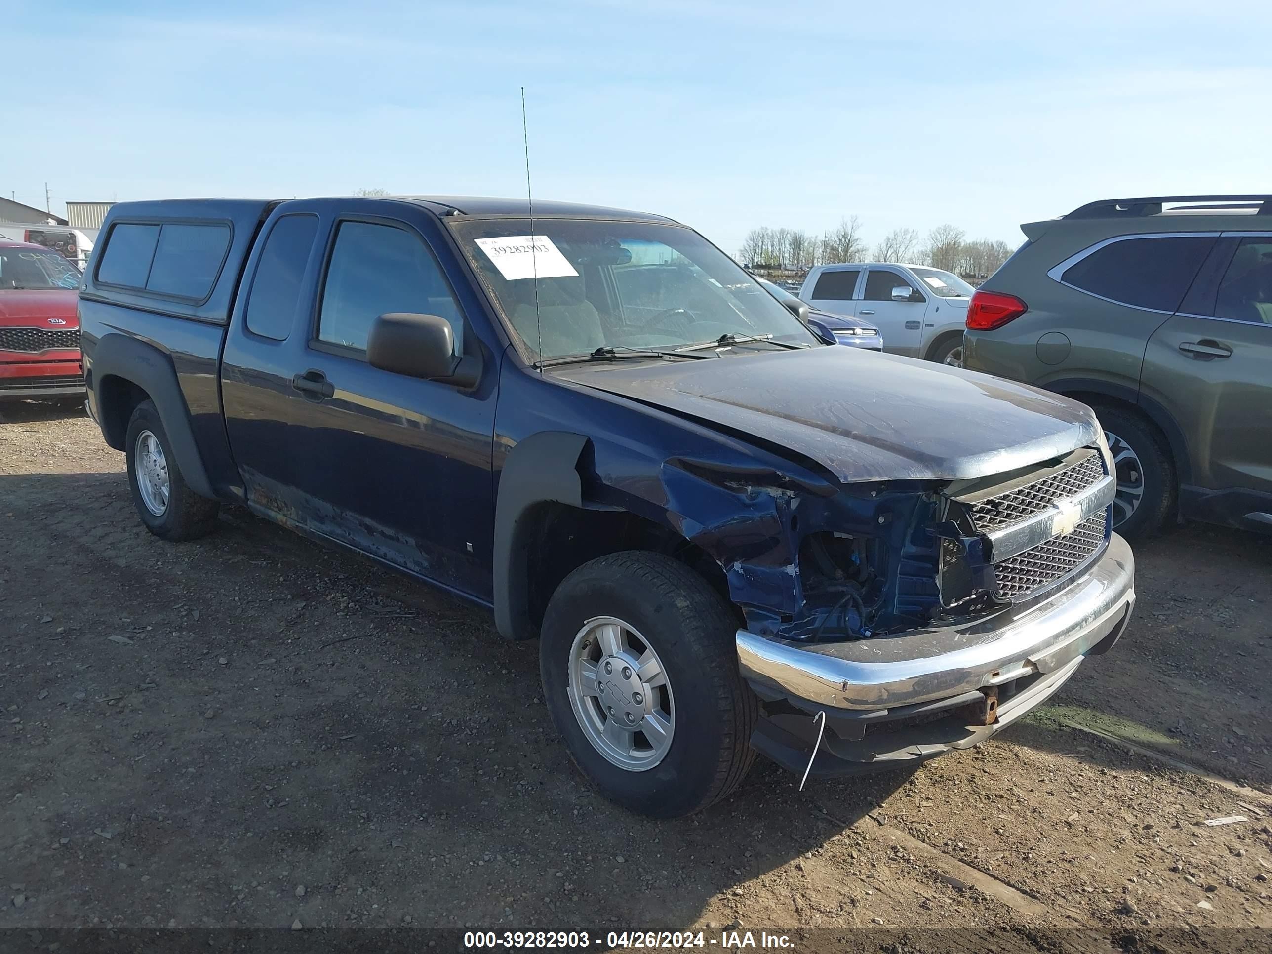
<path id="1" fill-rule="evenodd" d="M 177 380 L 172 359 L 153 345 L 127 335 L 106 335 L 93 347 L 93 389 L 97 396 L 98 416 L 104 421 L 109 411 L 103 404 L 102 382 L 122 378 L 132 382 L 150 396 L 159 420 L 168 434 L 168 443 L 177 458 L 181 476 L 190 488 L 202 497 L 216 499 L 207 468 L 198 453 L 195 430 L 190 424 L 190 408 Z M 122 444 L 122 435 L 121 435 Z"/>

